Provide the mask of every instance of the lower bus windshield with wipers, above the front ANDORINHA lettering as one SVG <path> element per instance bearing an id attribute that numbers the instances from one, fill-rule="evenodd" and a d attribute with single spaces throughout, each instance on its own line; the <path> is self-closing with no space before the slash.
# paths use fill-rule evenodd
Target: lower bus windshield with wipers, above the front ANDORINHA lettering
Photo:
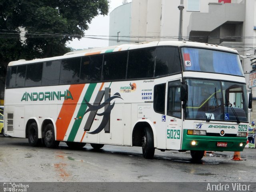
<path id="1" fill-rule="evenodd" d="M 186 79 L 186 119 L 248 122 L 246 84 Z"/>

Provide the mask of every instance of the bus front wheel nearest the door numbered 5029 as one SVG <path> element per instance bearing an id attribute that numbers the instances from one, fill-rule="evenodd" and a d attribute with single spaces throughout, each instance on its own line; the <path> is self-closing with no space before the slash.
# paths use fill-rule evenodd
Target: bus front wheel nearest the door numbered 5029
<path id="1" fill-rule="evenodd" d="M 142 153 L 146 159 L 152 159 L 154 157 L 154 137 L 153 132 L 149 127 L 144 128 L 144 134 L 142 136 Z"/>

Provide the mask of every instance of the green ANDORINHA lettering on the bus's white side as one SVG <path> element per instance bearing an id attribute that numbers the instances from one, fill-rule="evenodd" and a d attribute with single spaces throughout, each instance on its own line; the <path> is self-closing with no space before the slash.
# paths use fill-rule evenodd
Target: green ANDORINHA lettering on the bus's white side
<path id="1" fill-rule="evenodd" d="M 21 101 L 44 101 L 44 100 L 68 100 L 68 99 L 72 99 L 72 94 L 69 90 L 66 90 L 64 92 L 62 91 L 52 91 L 52 92 L 33 92 L 33 93 L 28 93 L 25 92 L 21 98 Z"/>

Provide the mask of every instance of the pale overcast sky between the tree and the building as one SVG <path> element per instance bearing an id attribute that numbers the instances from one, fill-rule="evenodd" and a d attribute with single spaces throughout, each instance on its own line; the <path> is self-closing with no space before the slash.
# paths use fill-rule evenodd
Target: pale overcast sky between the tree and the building
<path id="1" fill-rule="evenodd" d="M 132 0 L 127 0 L 131 2 Z M 110 0 L 110 8 L 108 15 L 106 16 L 96 16 L 92 19 L 91 24 L 89 24 L 89 29 L 85 31 L 85 35 L 97 35 L 97 36 L 108 36 L 109 34 L 109 14 L 122 5 L 123 0 Z M 108 38 L 108 37 L 106 37 Z M 94 48 L 94 47 L 107 47 L 108 40 L 98 40 L 91 38 L 81 38 L 80 40 L 74 39 L 66 44 L 66 46 L 74 49 L 83 49 L 83 48 Z"/>

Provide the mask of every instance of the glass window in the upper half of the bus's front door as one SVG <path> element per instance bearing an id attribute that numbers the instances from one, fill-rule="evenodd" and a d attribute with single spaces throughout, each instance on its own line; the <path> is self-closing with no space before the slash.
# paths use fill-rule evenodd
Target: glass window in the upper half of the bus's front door
<path id="1" fill-rule="evenodd" d="M 168 83 L 167 115 L 181 118 L 180 81 Z"/>

